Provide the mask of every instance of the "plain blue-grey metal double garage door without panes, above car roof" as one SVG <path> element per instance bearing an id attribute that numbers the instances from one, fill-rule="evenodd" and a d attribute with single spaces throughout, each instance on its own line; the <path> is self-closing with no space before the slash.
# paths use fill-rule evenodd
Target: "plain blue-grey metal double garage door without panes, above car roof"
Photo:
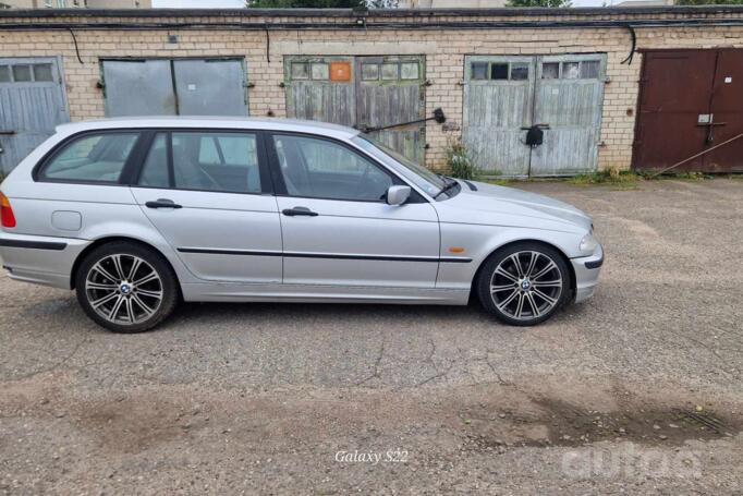
<path id="1" fill-rule="evenodd" d="M 237 59 L 103 60 L 106 114 L 247 116 Z"/>

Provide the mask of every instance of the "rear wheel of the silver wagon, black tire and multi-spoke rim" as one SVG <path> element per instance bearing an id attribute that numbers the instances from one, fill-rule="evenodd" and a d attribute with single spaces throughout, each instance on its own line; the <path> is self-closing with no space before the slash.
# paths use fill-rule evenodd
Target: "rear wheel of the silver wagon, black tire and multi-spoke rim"
<path id="1" fill-rule="evenodd" d="M 88 253 L 75 274 L 75 289 L 88 317 L 122 334 L 151 329 L 168 318 L 180 300 L 178 278 L 165 257 L 126 241 Z"/>

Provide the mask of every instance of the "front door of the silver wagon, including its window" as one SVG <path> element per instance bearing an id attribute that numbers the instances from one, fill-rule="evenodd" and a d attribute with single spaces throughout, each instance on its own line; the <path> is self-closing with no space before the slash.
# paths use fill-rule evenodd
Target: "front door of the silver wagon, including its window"
<path id="1" fill-rule="evenodd" d="M 291 134 L 272 142 L 284 283 L 435 287 L 439 225 L 429 203 L 415 195 L 388 205 L 388 187 L 402 182 L 341 143 Z"/>

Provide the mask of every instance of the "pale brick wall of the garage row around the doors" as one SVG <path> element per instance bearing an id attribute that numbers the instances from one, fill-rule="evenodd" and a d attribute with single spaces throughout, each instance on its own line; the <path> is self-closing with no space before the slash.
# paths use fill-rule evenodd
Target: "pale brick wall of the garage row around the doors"
<path id="1" fill-rule="evenodd" d="M 575 15 L 561 15 L 560 20 L 587 19 L 576 11 Z M 608 11 L 604 11 L 608 12 Z M 475 15 L 475 14 L 473 14 Z M 479 15 L 479 14 L 478 14 Z M 651 14 L 635 14 L 645 19 Z M 653 14 L 662 19 L 677 19 L 692 14 Z M 696 17 L 697 15 L 694 14 Z M 743 11 L 706 14 L 707 19 L 741 19 Z M 601 19 L 609 19 L 604 14 Z M 617 19 L 631 20 L 619 14 Z M 634 19 L 632 17 L 632 19 Z M 655 19 L 654 17 L 654 19 Z M 451 17 L 456 21 L 461 17 Z M 497 15 L 475 16 L 473 20 L 499 20 Z M 539 15 L 514 17 L 509 21 L 550 21 Z M 247 78 L 254 84 L 248 89 L 252 116 L 285 116 L 283 81 L 283 56 L 285 55 L 398 55 L 416 53 L 426 57 L 426 76 L 433 85 L 426 88 L 426 108 L 430 114 L 436 107 L 443 108 L 456 124 L 462 122 L 465 55 L 548 55 L 606 52 L 607 75 L 601 118 L 601 145 L 599 168 L 628 169 L 632 158 L 632 143 L 637 113 L 637 92 L 642 53 L 636 53 L 632 64 L 621 61 L 631 48 L 630 32 L 625 27 L 590 28 L 487 28 L 487 29 L 386 29 L 373 28 L 334 31 L 336 22 L 348 22 L 348 16 L 334 17 L 271 17 L 272 23 L 316 22 L 327 23 L 328 29 L 271 29 L 270 50 L 267 53 L 267 34 L 245 29 L 75 29 L 83 63 L 75 53 L 69 31 L 45 29 L 49 22 L 112 22 L 110 17 L 50 17 L 14 19 L 0 16 L 5 23 L 28 23 L 27 31 L 0 31 L 0 57 L 60 56 L 66 83 L 70 114 L 73 120 L 105 116 L 102 90 L 96 87 L 101 77 L 99 60 L 121 57 L 244 57 Z M 172 16 L 172 17 L 119 17 L 118 23 L 234 23 L 233 17 Z M 390 21 L 390 20 L 387 20 Z M 394 17 L 392 22 L 426 23 L 421 17 Z M 440 21 L 440 20 L 439 20 Z M 247 22 L 257 22 L 248 20 Z M 260 20 L 260 22 L 264 22 Z M 33 24 L 33 26 L 32 26 Z M 699 27 L 637 27 L 638 49 L 651 48 L 711 48 L 743 47 L 743 26 Z M 168 35 L 178 35 L 176 44 L 168 43 Z M 267 57 L 268 56 L 268 57 Z M 270 61 L 269 61 L 270 59 Z M 693 68 L 690 68 L 693 70 Z M 427 128 L 427 165 L 440 167 L 447 143 L 460 134 L 458 130 L 444 131 L 429 123 Z"/>

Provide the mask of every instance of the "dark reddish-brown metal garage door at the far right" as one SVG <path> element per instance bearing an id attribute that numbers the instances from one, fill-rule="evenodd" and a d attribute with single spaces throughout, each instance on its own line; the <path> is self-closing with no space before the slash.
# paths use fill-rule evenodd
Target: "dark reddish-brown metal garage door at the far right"
<path id="1" fill-rule="evenodd" d="M 743 171 L 743 50 L 658 50 L 643 57 L 634 167 Z"/>

